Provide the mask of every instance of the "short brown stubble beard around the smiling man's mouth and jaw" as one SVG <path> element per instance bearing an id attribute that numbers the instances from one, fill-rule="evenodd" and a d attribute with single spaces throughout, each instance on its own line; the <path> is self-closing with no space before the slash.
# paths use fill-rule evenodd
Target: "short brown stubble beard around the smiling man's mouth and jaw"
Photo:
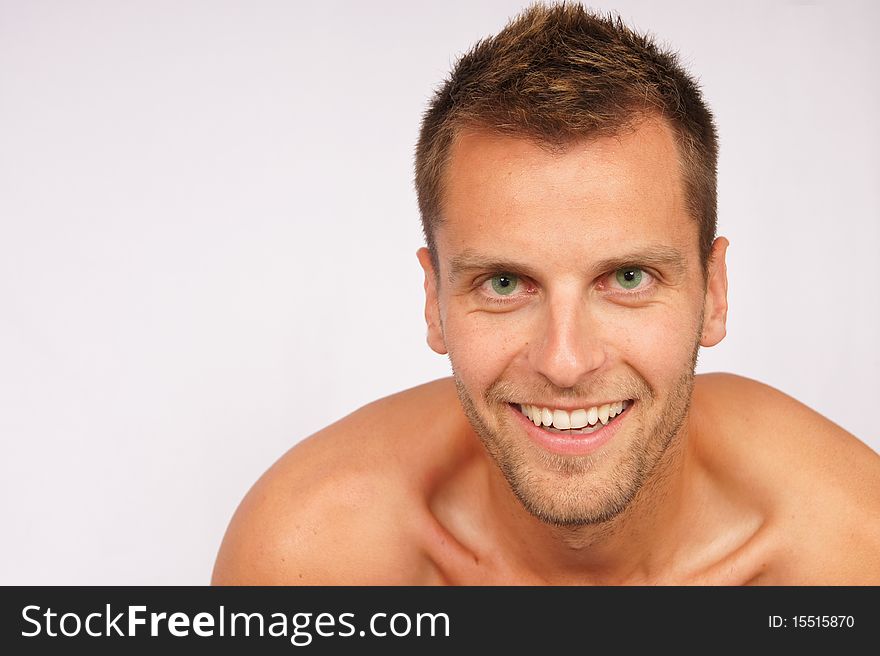
<path id="1" fill-rule="evenodd" d="M 514 385 L 499 380 L 484 394 L 497 429 L 489 426 L 457 374 L 455 387 L 471 426 L 511 491 L 529 513 L 553 526 L 600 525 L 623 513 L 652 476 L 662 476 L 663 472 L 657 471 L 658 465 L 674 446 L 688 416 L 698 350 L 699 344 L 696 344 L 689 366 L 660 407 L 657 407 L 661 401 L 657 400 L 656 391 L 641 377 L 633 376 L 631 380 L 611 387 L 620 394 L 616 398 L 635 399 L 637 403 L 633 409 L 639 415 L 627 418 L 629 445 L 617 456 L 616 463 L 610 463 L 608 453 L 604 451 L 587 456 L 561 456 L 540 451 L 536 458 L 535 449 L 527 449 L 522 443 L 522 430 L 511 425 L 510 409 L 505 399 L 517 398 Z M 603 391 L 608 389 L 600 381 L 593 387 Z M 569 390 L 567 393 L 574 397 L 578 392 Z M 565 396 L 566 393 L 557 389 L 556 395 Z M 644 422 L 651 415 L 654 419 L 646 425 Z M 519 436 L 513 437 L 516 433 Z"/>

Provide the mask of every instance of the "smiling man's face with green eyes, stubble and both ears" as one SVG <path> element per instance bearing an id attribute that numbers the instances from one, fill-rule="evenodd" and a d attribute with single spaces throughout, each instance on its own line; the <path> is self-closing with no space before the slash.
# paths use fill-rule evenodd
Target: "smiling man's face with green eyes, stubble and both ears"
<path id="1" fill-rule="evenodd" d="M 468 132 L 446 185 L 439 271 L 419 253 L 429 343 L 530 512 L 610 519 L 680 434 L 698 345 L 724 335 L 726 241 L 707 285 L 661 121 L 561 152 Z"/>

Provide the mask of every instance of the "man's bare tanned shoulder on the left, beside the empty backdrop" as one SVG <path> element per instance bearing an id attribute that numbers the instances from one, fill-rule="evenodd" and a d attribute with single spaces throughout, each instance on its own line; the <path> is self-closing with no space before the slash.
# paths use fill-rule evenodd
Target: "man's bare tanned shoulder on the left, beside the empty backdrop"
<path id="1" fill-rule="evenodd" d="M 435 381 L 380 399 L 294 446 L 241 502 L 212 582 L 396 585 L 429 578 L 420 523 L 427 521 L 425 480 L 442 454 L 429 433 L 442 427 L 425 415 L 449 392 L 448 381 Z"/>

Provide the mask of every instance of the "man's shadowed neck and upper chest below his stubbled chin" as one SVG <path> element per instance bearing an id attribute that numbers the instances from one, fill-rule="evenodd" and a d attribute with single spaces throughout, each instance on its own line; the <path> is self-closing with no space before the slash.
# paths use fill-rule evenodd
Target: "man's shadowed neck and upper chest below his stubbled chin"
<path id="1" fill-rule="evenodd" d="M 491 504 L 512 557 L 547 583 L 646 582 L 664 569 L 687 535 L 694 457 L 685 421 L 629 505 L 601 524 L 559 527 L 528 513 L 492 465 Z"/>

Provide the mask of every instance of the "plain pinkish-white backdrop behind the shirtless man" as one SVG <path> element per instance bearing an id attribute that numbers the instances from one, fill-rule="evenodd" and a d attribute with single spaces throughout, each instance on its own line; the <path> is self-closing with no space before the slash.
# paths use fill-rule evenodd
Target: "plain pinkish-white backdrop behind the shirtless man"
<path id="1" fill-rule="evenodd" d="M 413 146 L 523 5 L 0 2 L 0 583 L 206 583 L 285 450 L 448 374 Z M 700 370 L 880 450 L 878 5 L 599 6 L 717 116 L 729 336 Z"/>

